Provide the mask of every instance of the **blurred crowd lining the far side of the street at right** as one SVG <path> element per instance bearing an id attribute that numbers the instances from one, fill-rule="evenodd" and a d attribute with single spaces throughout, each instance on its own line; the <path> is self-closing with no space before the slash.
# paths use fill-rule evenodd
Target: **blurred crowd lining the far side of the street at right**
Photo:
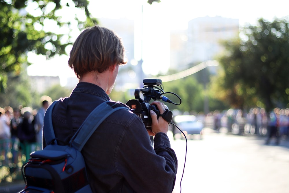
<path id="1" fill-rule="evenodd" d="M 289 136 L 289 109 L 275 108 L 266 112 L 264 108 L 252 108 L 249 112 L 240 109 L 228 109 L 223 112 L 214 111 L 209 114 L 214 117 L 214 129 L 226 128 L 234 134 L 251 133 L 276 139 Z M 268 143 L 267 142 L 267 143 Z"/>

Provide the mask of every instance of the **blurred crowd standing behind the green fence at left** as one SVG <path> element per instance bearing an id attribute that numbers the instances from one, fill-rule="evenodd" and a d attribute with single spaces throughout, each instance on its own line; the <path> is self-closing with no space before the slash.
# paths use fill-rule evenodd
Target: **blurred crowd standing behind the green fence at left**
<path id="1" fill-rule="evenodd" d="M 19 152 L 26 157 L 34 149 L 41 148 L 43 117 L 48 101 L 42 102 L 38 110 L 31 107 L 0 107 L 0 150 L 1 164 L 18 163 Z M 21 151 L 19 151 L 21 150 Z M 29 157 L 25 158 L 28 159 Z"/>

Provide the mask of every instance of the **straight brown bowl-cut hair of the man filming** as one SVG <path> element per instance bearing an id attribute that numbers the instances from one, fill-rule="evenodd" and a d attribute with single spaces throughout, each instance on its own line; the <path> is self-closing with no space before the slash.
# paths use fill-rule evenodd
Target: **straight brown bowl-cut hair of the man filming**
<path id="1" fill-rule="evenodd" d="M 114 31 L 98 25 L 81 32 L 73 44 L 68 60 L 68 65 L 77 78 L 87 72 L 102 73 L 112 65 L 126 63 L 121 38 Z"/>

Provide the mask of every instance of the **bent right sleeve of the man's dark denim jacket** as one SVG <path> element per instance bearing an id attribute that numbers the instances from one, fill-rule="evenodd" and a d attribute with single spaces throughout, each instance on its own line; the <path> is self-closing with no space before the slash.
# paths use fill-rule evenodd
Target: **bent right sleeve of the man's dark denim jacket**
<path id="1" fill-rule="evenodd" d="M 139 117 L 127 126 L 116 169 L 135 192 L 172 192 L 177 157 L 165 133 L 155 135 L 154 148 Z"/>

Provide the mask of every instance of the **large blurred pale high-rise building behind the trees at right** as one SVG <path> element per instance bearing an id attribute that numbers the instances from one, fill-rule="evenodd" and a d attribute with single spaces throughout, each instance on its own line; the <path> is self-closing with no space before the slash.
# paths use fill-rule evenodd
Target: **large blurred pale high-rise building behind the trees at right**
<path id="1" fill-rule="evenodd" d="M 238 37 L 238 34 L 238 19 L 221 16 L 192 19 L 186 32 L 171 33 L 171 68 L 186 69 L 189 63 L 214 60 L 224 50 L 220 41 Z"/>

